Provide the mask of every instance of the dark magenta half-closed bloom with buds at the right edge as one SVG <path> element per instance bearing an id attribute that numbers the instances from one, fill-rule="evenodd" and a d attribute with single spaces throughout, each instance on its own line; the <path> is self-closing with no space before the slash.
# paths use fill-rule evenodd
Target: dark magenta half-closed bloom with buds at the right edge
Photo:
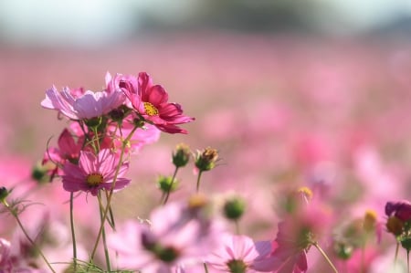
<path id="1" fill-rule="evenodd" d="M 411 250 L 411 203 L 409 201 L 387 202 L 385 215 L 388 216 L 386 229 L 406 251 Z"/>

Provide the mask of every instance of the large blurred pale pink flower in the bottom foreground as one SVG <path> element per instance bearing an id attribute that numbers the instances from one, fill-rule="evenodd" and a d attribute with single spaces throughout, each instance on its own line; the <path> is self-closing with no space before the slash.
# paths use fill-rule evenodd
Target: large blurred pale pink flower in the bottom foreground
<path id="1" fill-rule="evenodd" d="M 197 209 L 170 203 L 153 211 L 150 226 L 127 222 L 109 236 L 119 267 L 165 273 L 203 263 L 221 230 L 214 220 L 197 215 Z"/>

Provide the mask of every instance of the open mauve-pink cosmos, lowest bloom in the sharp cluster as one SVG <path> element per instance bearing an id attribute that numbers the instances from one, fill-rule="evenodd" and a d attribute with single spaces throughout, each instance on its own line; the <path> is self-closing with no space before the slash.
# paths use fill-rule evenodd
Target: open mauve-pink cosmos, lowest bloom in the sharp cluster
<path id="1" fill-rule="evenodd" d="M 114 175 L 118 165 L 120 171 L 114 185 Z M 63 167 L 63 187 L 68 192 L 83 191 L 97 195 L 100 189 L 121 190 L 130 184 L 130 179 L 123 178 L 129 164 L 120 163 L 115 153 L 103 149 L 98 155 L 93 152 L 81 151 L 79 165 L 67 162 Z"/>

